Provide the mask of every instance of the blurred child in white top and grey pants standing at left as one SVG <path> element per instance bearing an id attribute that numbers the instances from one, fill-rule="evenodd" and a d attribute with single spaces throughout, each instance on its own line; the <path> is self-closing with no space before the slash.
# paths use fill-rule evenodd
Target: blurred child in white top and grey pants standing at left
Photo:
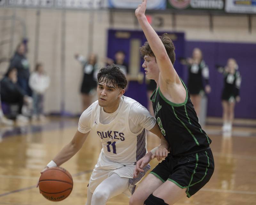
<path id="1" fill-rule="evenodd" d="M 44 93 L 50 85 L 50 78 L 44 72 L 44 67 L 41 63 L 36 64 L 35 72 L 29 77 L 29 86 L 33 92 L 33 116 L 32 120 L 44 120 Z"/>

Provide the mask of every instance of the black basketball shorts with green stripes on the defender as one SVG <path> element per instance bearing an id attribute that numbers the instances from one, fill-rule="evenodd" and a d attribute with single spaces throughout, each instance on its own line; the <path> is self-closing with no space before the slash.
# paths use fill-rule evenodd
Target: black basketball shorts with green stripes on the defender
<path id="1" fill-rule="evenodd" d="M 191 197 L 201 189 L 212 177 L 214 160 L 211 149 L 190 154 L 188 156 L 168 156 L 150 173 L 162 182 L 167 180 L 184 189 L 187 197 Z"/>

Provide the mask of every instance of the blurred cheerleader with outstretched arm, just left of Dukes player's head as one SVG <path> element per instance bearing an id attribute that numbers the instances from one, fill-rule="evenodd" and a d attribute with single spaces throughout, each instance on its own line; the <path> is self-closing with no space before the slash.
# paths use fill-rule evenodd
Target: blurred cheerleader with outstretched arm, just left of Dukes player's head
<path id="1" fill-rule="evenodd" d="M 90 54 L 87 60 L 80 54 L 75 54 L 75 58 L 83 66 L 84 77 L 80 92 L 82 94 L 84 111 L 92 104 L 93 93 L 97 87 L 97 72 L 99 70 L 99 66 L 97 64 L 97 56 L 95 54 Z"/>

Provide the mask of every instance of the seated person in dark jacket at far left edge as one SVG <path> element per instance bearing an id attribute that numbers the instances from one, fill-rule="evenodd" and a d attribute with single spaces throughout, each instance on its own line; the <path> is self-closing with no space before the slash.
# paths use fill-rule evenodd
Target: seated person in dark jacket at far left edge
<path id="1" fill-rule="evenodd" d="M 22 106 L 29 103 L 30 97 L 26 95 L 24 90 L 17 84 L 17 69 L 9 68 L 5 77 L 1 80 L 1 99 L 2 102 L 8 104 L 17 103 L 19 105 L 16 120 L 21 123 L 28 123 L 28 118 L 22 115 Z"/>

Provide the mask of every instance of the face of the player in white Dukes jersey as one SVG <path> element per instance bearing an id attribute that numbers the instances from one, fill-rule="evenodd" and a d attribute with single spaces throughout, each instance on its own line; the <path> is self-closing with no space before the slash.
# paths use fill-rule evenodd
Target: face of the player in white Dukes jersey
<path id="1" fill-rule="evenodd" d="M 97 87 L 98 102 L 101 107 L 112 107 L 119 103 L 120 97 L 124 94 L 124 89 L 116 88 L 113 85 L 99 83 Z"/>

